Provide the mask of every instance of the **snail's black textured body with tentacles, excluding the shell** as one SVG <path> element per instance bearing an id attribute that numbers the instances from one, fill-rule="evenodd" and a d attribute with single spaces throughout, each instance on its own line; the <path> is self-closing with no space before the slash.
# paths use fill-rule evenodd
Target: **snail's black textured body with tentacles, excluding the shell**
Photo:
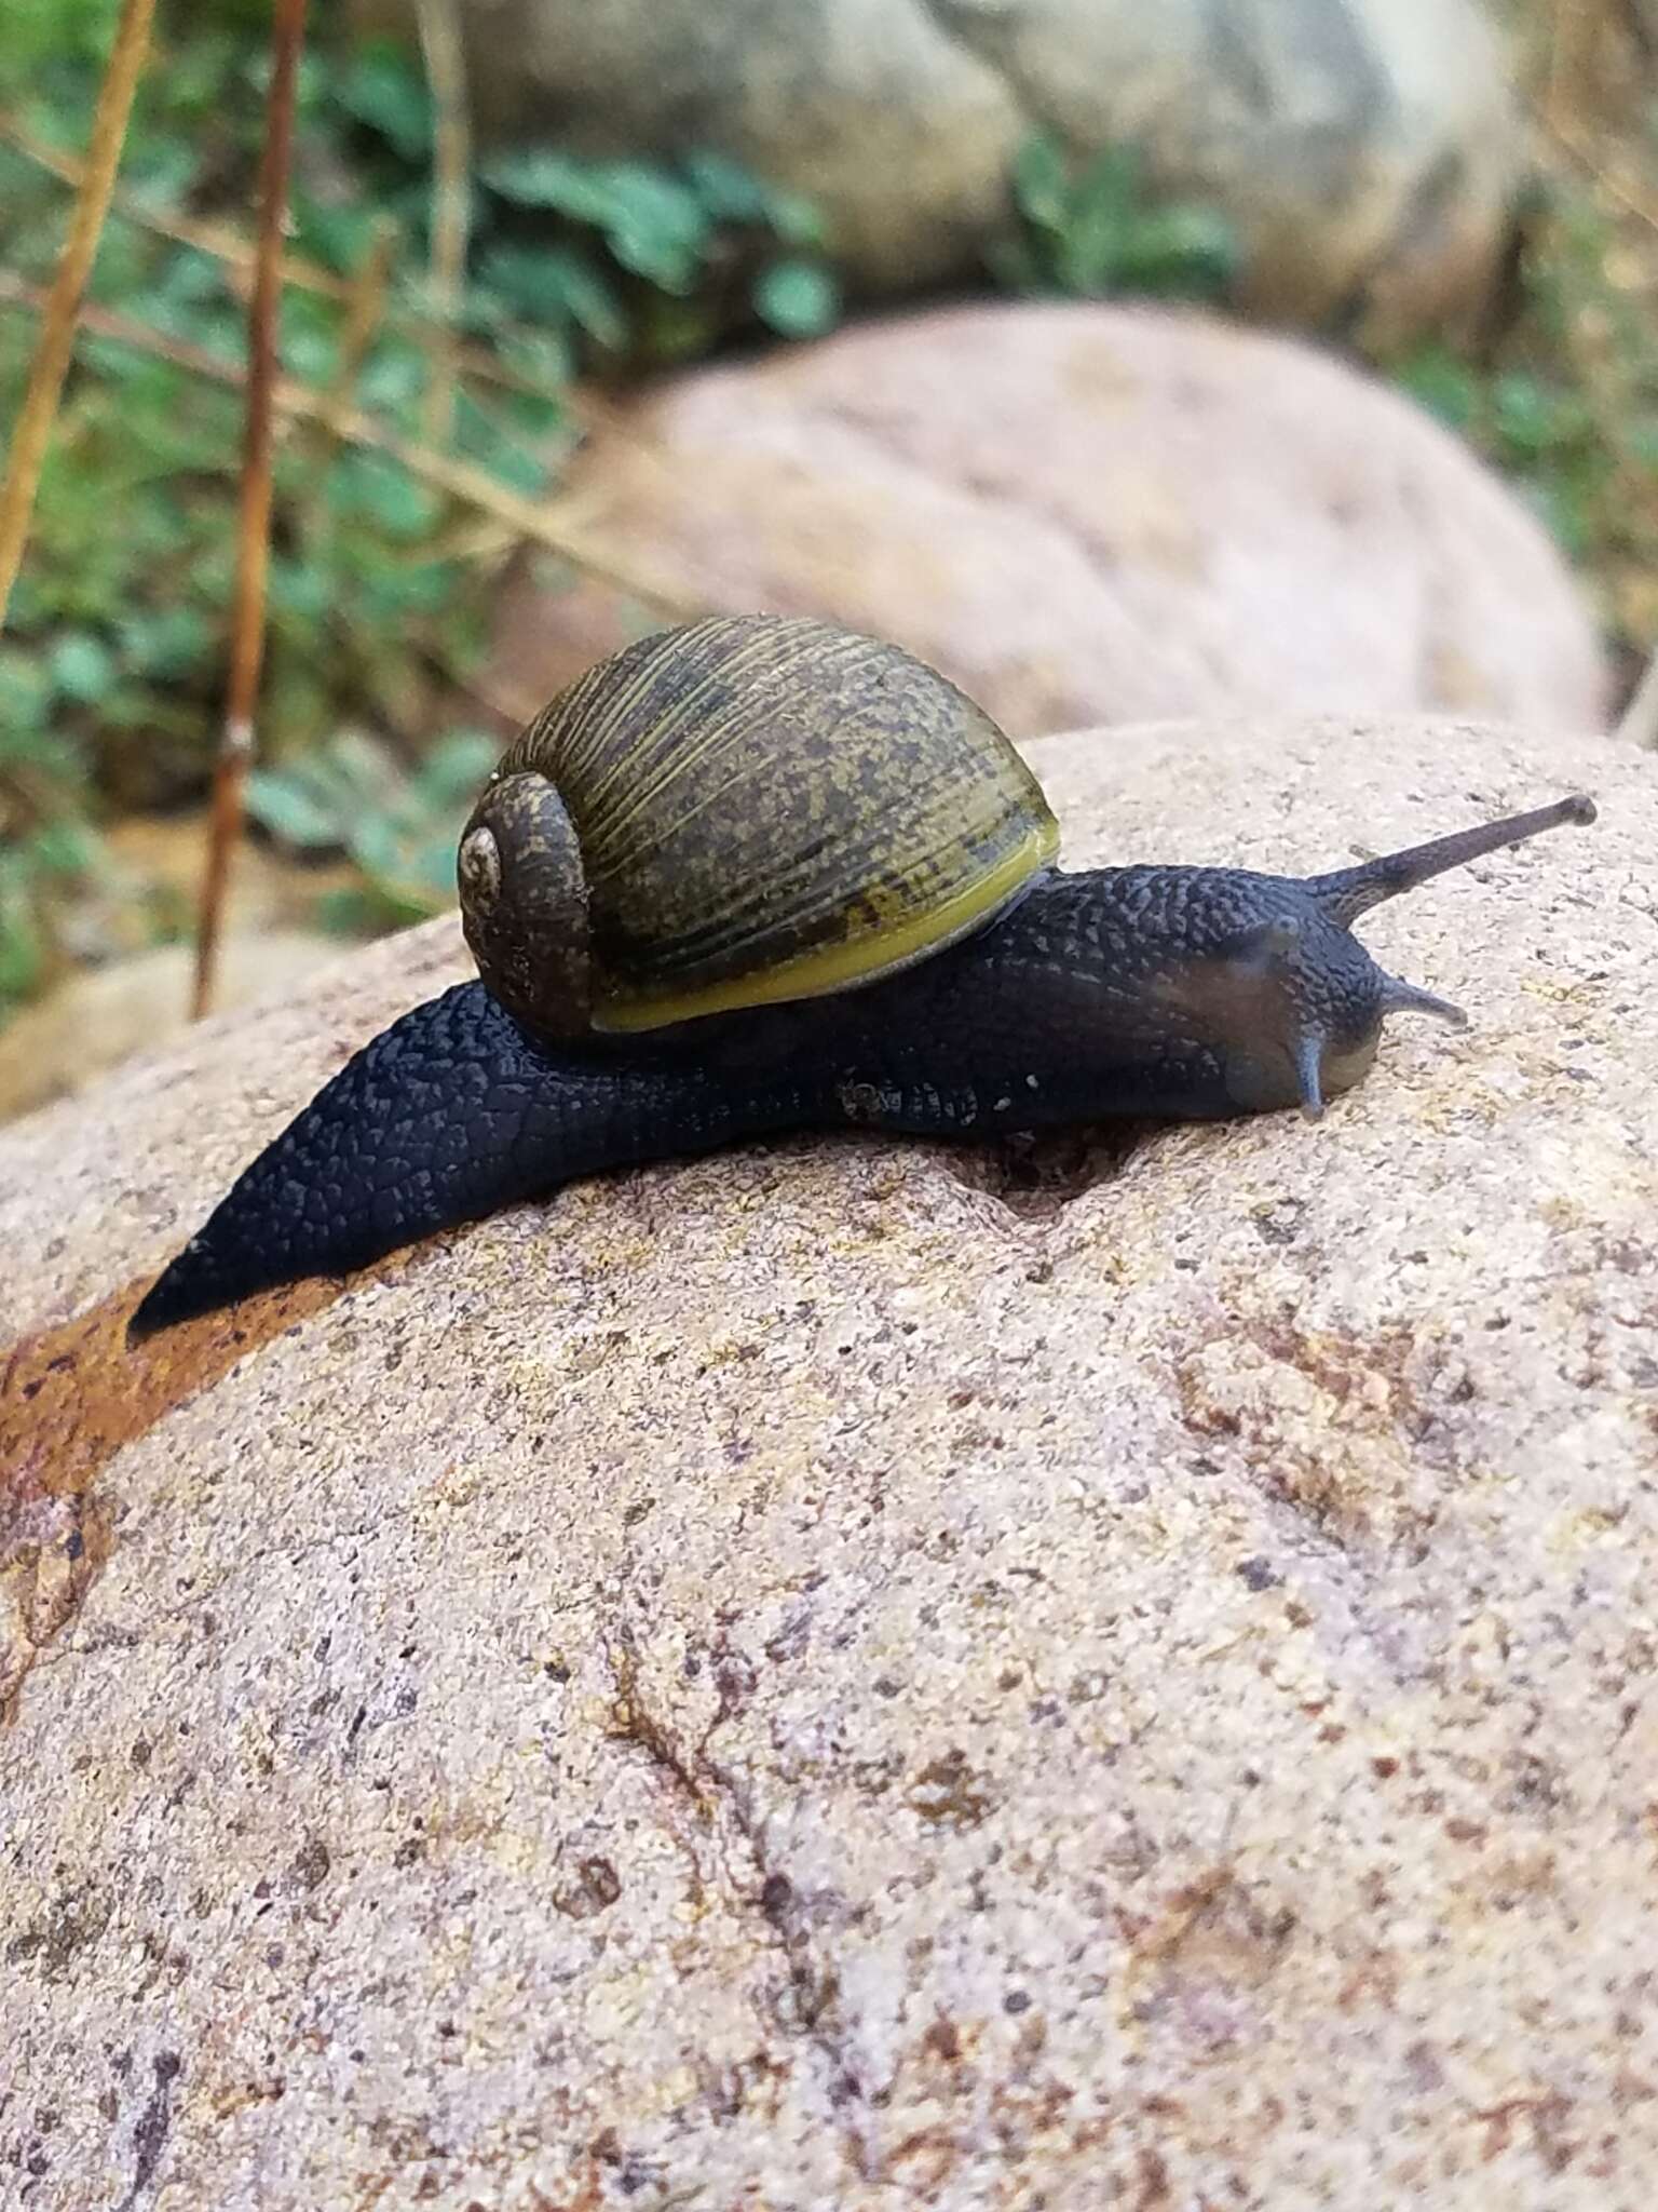
<path id="1" fill-rule="evenodd" d="M 374 1037 L 241 1175 L 130 1334 L 606 1168 L 789 1130 L 977 1139 L 1114 1115 L 1211 1119 L 1360 1082 L 1388 1013 L 1459 1009 L 1351 933 L 1373 905 L 1587 799 L 1324 876 L 1225 867 L 1048 874 L 977 936 L 833 998 L 590 1044 L 537 1042 L 458 984 Z"/>

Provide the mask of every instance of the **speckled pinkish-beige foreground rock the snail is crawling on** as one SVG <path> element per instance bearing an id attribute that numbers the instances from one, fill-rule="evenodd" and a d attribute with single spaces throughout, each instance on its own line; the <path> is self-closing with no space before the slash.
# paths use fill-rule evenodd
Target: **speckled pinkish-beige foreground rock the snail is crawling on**
<path id="1" fill-rule="evenodd" d="M 0 1135 L 20 2205 L 1649 2201 L 1649 768 L 1037 759 L 1074 858 L 1603 821 L 1366 925 L 1477 1029 L 1320 1128 L 654 1168 L 130 1360 L 451 925 Z"/>

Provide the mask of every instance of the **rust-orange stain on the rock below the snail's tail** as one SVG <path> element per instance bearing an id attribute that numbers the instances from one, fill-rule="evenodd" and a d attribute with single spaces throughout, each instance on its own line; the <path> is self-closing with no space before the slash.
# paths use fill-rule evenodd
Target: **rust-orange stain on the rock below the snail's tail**
<path id="1" fill-rule="evenodd" d="M 296 1283 L 128 1345 L 146 1290 L 148 1276 L 0 1354 L 0 1721 L 111 1555 L 117 1502 L 95 1493 L 104 1467 L 338 1296 L 329 1281 Z"/>

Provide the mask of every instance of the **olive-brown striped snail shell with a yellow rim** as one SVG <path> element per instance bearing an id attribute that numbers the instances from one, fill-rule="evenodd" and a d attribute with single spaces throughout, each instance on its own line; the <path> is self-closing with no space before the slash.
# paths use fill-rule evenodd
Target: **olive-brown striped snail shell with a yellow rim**
<path id="1" fill-rule="evenodd" d="M 1057 852 L 1030 770 L 933 668 L 738 615 L 643 637 L 537 714 L 458 874 L 489 989 L 579 1037 L 873 982 L 984 927 Z"/>

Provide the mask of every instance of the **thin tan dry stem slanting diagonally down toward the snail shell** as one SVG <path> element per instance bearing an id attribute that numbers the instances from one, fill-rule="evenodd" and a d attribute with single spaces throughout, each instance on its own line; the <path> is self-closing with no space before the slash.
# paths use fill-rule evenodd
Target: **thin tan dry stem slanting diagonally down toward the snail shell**
<path id="1" fill-rule="evenodd" d="M 0 270 L 0 305 L 38 307 L 40 296 L 35 285 L 24 283 L 9 270 Z M 170 361 L 175 369 L 186 369 L 192 376 L 203 376 L 232 389 L 241 389 L 245 383 L 234 361 L 221 361 L 219 354 L 210 354 L 201 345 L 188 345 L 183 338 L 168 338 L 164 332 L 150 330 L 146 323 L 137 323 L 111 307 L 88 307 L 82 321 L 95 336 L 108 338 L 115 345 L 130 345 L 135 352 L 153 354 L 159 361 Z M 573 529 L 555 504 L 526 500 L 522 493 L 508 491 L 506 484 L 497 484 L 493 476 L 471 467 L 471 462 L 455 460 L 449 453 L 433 453 L 413 438 L 400 438 L 360 409 L 340 414 L 332 400 L 287 376 L 276 378 L 272 400 L 276 414 L 301 422 L 327 420 L 345 445 L 387 453 L 409 476 L 418 476 L 424 484 L 447 491 L 462 507 L 493 515 L 515 538 L 546 546 L 548 553 L 559 553 L 584 575 L 595 577 L 599 584 L 612 584 L 630 599 L 679 617 L 710 613 L 710 602 L 696 593 L 688 593 L 683 584 L 652 577 L 630 555 Z"/>

